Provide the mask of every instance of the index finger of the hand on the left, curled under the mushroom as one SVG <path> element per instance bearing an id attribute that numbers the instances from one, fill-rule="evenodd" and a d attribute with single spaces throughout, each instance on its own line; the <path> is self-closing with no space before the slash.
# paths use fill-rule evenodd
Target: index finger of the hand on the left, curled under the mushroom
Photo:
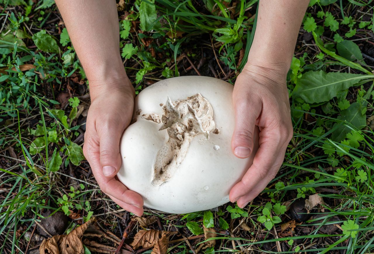
<path id="1" fill-rule="evenodd" d="M 87 140 L 85 140 L 84 147 L 85 156 L 91 166 L 92 173 L 102 192 L 104 192 L 108 196 L 112 196 L 124 203 L 127 203 L 128 205 L 142 207 L 143 199 L 138 193 L 132 190 L 128 190 L 127 187 L 120 181 L 116 180 L 114 176 L 111 178 L 104 176 L 100 165 L 99 147 L 95 145 L 95 142 L 92 141 L 91 138 L 89 138 L 95 137 L 95 134 L 85 135 L 85 137 L 87 138 Z"/>

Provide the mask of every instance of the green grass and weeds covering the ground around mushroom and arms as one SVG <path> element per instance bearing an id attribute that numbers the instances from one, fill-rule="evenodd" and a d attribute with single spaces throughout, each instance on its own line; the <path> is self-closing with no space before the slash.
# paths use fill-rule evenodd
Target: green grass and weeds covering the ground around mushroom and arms
<path id="1" fill-rule="evenodd" d="M 370 0 L 328 2 L 312 1 L 301 25 L 287 77 L 294 137 L 268 188 L 244 209 L 226 204 L 218 211 L 184 216 L 145 209 L 145 216 L 157 216 L 164 230 L 177 229 L 187 238 L 200 235 L 203 224 L 213 225 L 219 234 L 214 250 L 209 248 L 206 253 L 373 252 L 374 133 L 370 117 L 374 111 L 374 55 L 369 49 L 374 45 L 370 36 L 374 7 Z M 119 16 L 128 13 L 127 19 L 119 21 L 120 47 L 137 93 L 157 80 L 196 75 L 183 54 L 195 66 L 206 58 L 199 69 L 202 75 L 226 76 L 234 83 L 245 64 L 240 55 L 246 59 L 254 36 L 257 1 L 144 1 L 157 12 L 150 24 L 140 24 L 141 15 L 151 15 L 141 10 L 141 1 L 125 3 L 126 9 L 119 11 Z M 24 253 L 28 245 L 25 233 L 33 231 L 47 209 L 70 215 L 67 233 L 95 216 L 105 230 L 120 236 L 123 224 L 113 213 L 120 217 L 130 214 L 99 191 L 78 148 L 83 142 L 82 112 L 89 105 L 84 97 L 87 80 L 66 30 L 58 24 L 53 1 L 0 0 L 0 4 L 6 6 L 0 13 L 0 242 L 4 242 L 0 253 Z M 145 29 L 127 33 L 131 21 Z M 235 38 L 225 37 L 225 31 Z M 55 43 L 48 46 L 46 40 Z M 327 74 L 328 81 L 319 80 Z M 309 87 L 313 92 L 303 93 L 312 78 L 319 82 Z M 334 96 L 324 92 L 324 86 Z M 61 94 L 70 98 L 66 105 L 60 104 Z M 323 214 L 322 222 L 309 218 L 294 233 L 281 232 L 279 225 L 291 219 L 283 202 L 313 193 L 319 193 L 325 202 L 323 212 L 311 211 Z M 278 216 L 282 222 L 271 227 L 268 223 L 266 229 L 258 221 L 263 215 L 273 220 Z M 333 216 L 338 220 L 328 222 Z M 343 230 L 319 232 L 321 226 L 336 223 Z M 135 228 L 130 237 L 138 230 L 141 228 Z M 200 237 L 189 243 L 195 248 L 208 240 Z M 37 245 L 31 242 L 29 249 Z M 170 253 L 191 253 L 184 239 L 168 248 Z"/>

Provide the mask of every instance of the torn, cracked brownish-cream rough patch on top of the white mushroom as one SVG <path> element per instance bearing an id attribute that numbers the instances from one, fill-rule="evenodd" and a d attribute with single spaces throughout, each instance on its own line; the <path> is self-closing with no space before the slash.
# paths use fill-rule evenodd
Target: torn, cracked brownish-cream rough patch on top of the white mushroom
<path id="1" fill-rule="evenodd" d="M 154 161 L 154 186 L 170 180 L 186 157 L 194 136 L 202 133 L 209 140 L 209 132 L 215 129 L 212 106 L 201 94 L 174 102 L 168 97 L 163 110 L 163 126 L 159 131 L 167 129 L 169 140 L 157 152 Z M 160 117 L 156 116 L 147 113 L 143 114 L 142 118 L 160 123 Z"/>

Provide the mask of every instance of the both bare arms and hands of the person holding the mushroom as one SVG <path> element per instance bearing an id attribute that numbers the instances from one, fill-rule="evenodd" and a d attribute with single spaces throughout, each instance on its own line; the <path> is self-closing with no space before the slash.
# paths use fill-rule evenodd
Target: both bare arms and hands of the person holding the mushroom
<path id="1" fill-rule="evenodd" d="M 275 177 L 292 138 L 286 74 L 309 0 L 260 0 L 257 29 L 248 62 L 236 79 L 232 152 L 246 158 L 255 126 L 260 148 L 253 165 L 230 191 L 244 207 Z M 134 88 L 122 64 L 114 0 L 56 0 L 74 49 L 89 80 L 89 108 L 83 152 L 102 192 L 141 216 L 142 197 L 115 175 L 121 166 L 119 141 L 134 108 Z"/>

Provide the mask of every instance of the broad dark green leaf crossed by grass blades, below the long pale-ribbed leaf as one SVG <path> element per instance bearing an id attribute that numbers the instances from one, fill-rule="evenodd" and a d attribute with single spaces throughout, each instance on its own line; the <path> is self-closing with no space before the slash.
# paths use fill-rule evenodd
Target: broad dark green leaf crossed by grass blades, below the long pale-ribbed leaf
<path id="1" fill-rule="evenodd" d="M 359 103 L 354 102 L 352 103 L 349 108 L 346 110 L 341 111 L 341 115 L 337 117 L 339 120 L 346 121 L 347 123 L 350 123 L 352 126 L 354 126 L 356 129 L 362 129 L 366 125 L 366 116 L 365 114 L 362 114 L 362 109 L 365 107 Z M 335 123 L 332 128 L 339 125 L 340 123 Z M 334 132 L 332 132 L 331 138 L 334 141 L 340 142 L 343 140 L 347 133 L 350 132 L 351 129 L 340 125 Z"/>

